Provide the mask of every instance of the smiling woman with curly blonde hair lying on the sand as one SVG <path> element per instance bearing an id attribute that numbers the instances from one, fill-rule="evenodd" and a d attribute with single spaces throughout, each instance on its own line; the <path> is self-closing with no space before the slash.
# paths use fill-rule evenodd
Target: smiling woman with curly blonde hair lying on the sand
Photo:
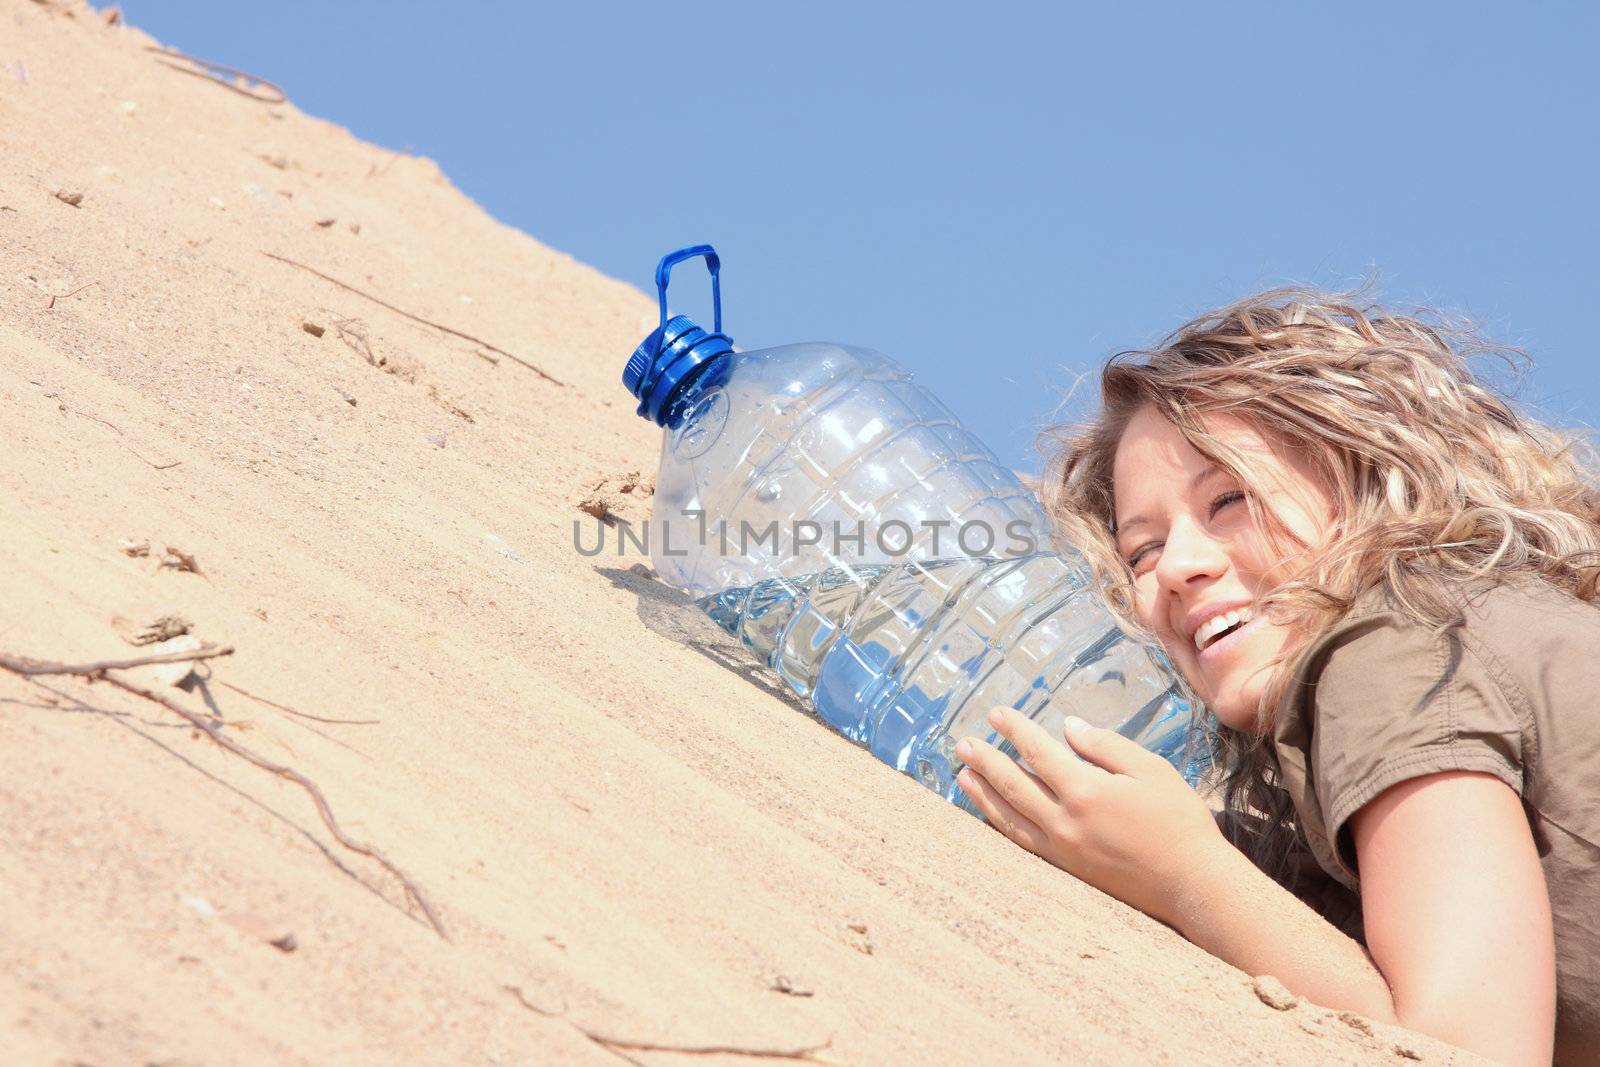
<path id="1" fill-rule="evenodd" d="M 962 785 L 1018 843 L 1330 1008 L 1600 1057 L 1600 491 L 1451 331 L 1318 293 L 1102 376 L 1046 504 L 1216 718 L 1227 822 L 1109 731 L 1021 717 Z M 1291 872 L 1358 894 L 1365 944 Z M 1558 995 L 1557 995 L 1558 990 Z"/>

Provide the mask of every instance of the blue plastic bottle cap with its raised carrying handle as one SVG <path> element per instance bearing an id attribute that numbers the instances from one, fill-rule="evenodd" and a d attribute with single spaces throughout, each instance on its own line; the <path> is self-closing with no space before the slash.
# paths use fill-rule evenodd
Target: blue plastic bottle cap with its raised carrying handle
<path id="1" fill-rule="evenodd" d="M 707 333 L 685 315 L 667 318 L 667 282 L 674 264 L 696 256 L 706 258 L 710 270 L 714 330 Z M 645 338 L 627 366 L 622 384 L 638 398 L 638 414 L 656 426 L 672 427 L 682 416 L 680 403 L 690 386 L 709 373 L 723 373 L 733 354 L 733 341 L 722 333 L 722 261 L 710 245 L 680 248 L 662 256 L 656 266 L 656 291 L 661 298 L 661 325 Z"/>

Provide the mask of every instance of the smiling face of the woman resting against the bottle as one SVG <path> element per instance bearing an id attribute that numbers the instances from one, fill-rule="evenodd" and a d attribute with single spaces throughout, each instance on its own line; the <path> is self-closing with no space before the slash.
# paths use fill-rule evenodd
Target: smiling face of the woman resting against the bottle
<path id="1" fill-rule="evenodd" d="M 1310 549 L 1326 537 L 1334 509 L 1294 450 L 1230 416 L 1208 419 L 1206 430 L 1245 456 L 1261 485 L 1240 485 L 1146 405 L 1112 466 L 1117 550 L 1133 571 L 1139 621 L 1218 720 L 1251 729 L 1272 661 L 1290 641 L 1254 605 L 1290 574 L 1285 550 L 1251 520 L 1245 494 Z"/>

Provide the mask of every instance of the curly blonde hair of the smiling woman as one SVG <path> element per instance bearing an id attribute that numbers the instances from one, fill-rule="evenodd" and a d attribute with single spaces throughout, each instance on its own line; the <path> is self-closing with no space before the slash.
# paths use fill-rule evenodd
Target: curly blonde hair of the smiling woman
<path id="1" fill-rule="evenodd" d="M 1315 552 L 1250 499 L 1296 573 L 1262 598 L 1293 637 L 1256 731 L 1210 723 L 1224 803 L 1274 827 L 1250 849 L 1274 873 L 1294 832 L 1266 744 L 1272 710 L 1298 653 L 1358 595 L 1384 585 L 1411 617 L 1448 625 L 1462 581 L 1531 576 L 1581 600 L 1600 592 L 1600 482 L 1587 440 L 1514 410 L 1474 373 L 1482 357 L 1526 365 L 1515 349 L 1430 312 L 1392 314 L 1358 293 L 1272 290 L 1195 318 L 1155 349 L 1114 355 L 1099 418 L 1042 435 L 1045 507 L 1134 630 L 1131 577 L 1114 541 L 1112 462 L 1136 411 L 1154 405 L 1248 486 L 1259 483 L 1248 458 L 1206 432 L 1206 416 L 1242 418 L 1299 450 L 1330 490 L 1334 528 Z"/>

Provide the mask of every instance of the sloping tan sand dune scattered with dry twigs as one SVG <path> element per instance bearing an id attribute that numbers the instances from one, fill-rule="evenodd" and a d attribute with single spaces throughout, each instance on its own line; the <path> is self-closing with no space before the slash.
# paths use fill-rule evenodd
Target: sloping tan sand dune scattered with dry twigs
<path id="1" fill-rule="evenodd" d="M 126 677 L 317 782 L 448 939 L 293 782 L 0 672 L 0 1062 L 1451 1061 L 1269 1006 L 574 552 L 581 504 L 648 510 L 653 301 L 152 45 L 0 0 L 0 653 L 232 646 Z"/>

